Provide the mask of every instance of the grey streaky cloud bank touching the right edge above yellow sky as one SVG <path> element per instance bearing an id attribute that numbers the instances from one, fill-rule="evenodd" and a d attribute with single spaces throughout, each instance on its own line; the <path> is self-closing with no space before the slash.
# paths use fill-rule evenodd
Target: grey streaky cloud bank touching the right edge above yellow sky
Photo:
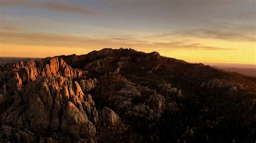
<path id="1" fill-rule="evenodd" d="M 220 39 L 232 42 L 255 42 L 255 24 L 245 24 L 241 22 L 223 22 L 215 26 L 191 28 L 186 30 L 176 30 L 168 33 L 152 35 L 148 38 L 160 37 L 197 37 Z"/>

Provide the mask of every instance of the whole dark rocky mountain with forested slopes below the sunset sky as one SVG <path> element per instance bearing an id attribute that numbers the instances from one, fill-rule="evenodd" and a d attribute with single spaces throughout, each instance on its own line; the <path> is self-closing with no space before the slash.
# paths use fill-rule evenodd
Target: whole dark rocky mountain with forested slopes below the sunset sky
<path id="1" fill-rule="evenodd" d="M 255 142 L 256 78 L 105 48 L 0 67 L 0 142 Z"/>

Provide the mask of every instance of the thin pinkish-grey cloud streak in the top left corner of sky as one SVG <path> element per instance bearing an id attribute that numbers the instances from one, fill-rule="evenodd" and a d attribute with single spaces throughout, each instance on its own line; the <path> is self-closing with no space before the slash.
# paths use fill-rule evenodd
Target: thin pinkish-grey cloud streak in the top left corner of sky
<path id="1" fill-rule="evenodd" d="M 31 0 L 1 0 L 1 5 L 12 6 L 22 5 L 30 8 L 38 8 L 45 10 L 52 10 L 58 12 L 73 12 L 85 15 L 97 14 L 97 12 L 83 8 L 77 4 L 60 3 L 60 2 L 33 2 Z"/>

